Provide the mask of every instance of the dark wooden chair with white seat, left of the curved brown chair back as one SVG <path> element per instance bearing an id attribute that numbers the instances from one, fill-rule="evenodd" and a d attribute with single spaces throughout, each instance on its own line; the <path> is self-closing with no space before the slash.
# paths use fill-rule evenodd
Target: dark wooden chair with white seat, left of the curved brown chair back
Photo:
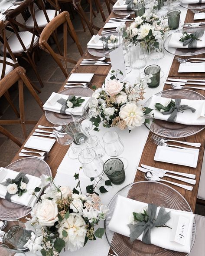
<path id="1" fill-rule="evenodd" d="M 23 16 L 24 20 L 29 19 L 31 16 L 29 10 L 33 15 L 33 28 L 26 27 L 24 22 L 17 21 L 16 19 L 20 14 Z M 39 76 L 35 64 L 35 53 L 39 47 L 39 27 L 36 23 L 33 0 L 25 0 L 16 9 L 8 12 L 6 19 L 9 21 L 9 26 L 13 31 L 13 34 L 7 40 L 11 52 L 15 57 L 21 57 L 31 65 L 39 83 L 43 87 L 41 77 Z M 3 51 L 3 47 L 1 47 L 0 50 Z M 7 53 L 9 52 L 7 51 Z"/>

